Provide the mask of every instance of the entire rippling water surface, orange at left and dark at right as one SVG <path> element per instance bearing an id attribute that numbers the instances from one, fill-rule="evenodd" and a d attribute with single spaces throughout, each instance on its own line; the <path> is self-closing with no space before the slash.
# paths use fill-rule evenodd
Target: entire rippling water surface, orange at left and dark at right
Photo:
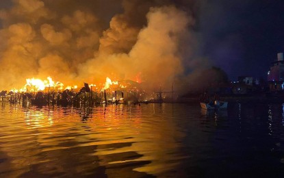
<path id="1" fill-rule="evenodd" d="M 284 175 L 282 103 L 0 104 L 0 177 Z"/>

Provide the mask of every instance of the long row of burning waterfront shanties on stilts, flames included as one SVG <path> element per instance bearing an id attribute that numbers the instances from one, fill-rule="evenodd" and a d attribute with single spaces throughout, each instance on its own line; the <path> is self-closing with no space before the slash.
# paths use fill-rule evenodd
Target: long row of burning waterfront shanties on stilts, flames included
<path id="1" fill-rule="evenodd" d="M 62 82 L 55 82 L 51 77 L 45 80 L 31 78 L 26 81 L 22 88 L 0 92 L 0 101 L 32 105 L 92 106 L 100 103 L 161 102 L 165 98 L 162 97 L 162 90 L 147 93 L 142 83 L 132 80 L 112 81 L 109 77 L 106 77 L 103 84 L 83 83 L 80 89 L 76 85 L 64 86 Z"/>

